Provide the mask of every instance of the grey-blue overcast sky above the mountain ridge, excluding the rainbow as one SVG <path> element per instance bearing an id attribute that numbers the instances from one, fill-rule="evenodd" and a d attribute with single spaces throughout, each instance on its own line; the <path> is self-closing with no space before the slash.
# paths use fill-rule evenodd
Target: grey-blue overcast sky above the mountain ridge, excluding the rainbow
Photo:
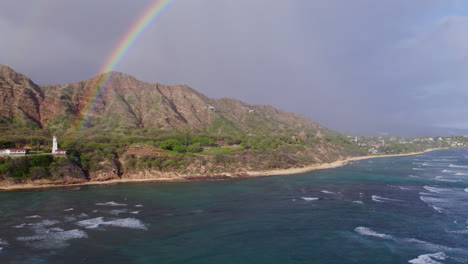
<path id="1" fill-rule="evenodd" d="M 151 0 L 0 0 L 0 64 L 99 73 Z M 362 135 L 468 131 L 468 1 L 173 0 L 115 70 Z"/>

